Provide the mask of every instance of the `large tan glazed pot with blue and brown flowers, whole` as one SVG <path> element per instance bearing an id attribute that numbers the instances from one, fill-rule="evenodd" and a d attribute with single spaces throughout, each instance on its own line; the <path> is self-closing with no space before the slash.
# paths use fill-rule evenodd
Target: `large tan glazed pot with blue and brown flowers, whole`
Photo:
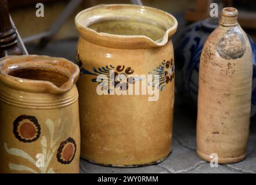
<path id="1" fill-rule="evenodd" d="M 75 25 L 81 156 L 113 166 L 163 161 L 172 150 L 176 19 L 145 6 L 99 5 L 80 12 Z M 147 91 L 130 93 L 136 84 Z M 150 88 L 158 98 L 150 100 Z"/>

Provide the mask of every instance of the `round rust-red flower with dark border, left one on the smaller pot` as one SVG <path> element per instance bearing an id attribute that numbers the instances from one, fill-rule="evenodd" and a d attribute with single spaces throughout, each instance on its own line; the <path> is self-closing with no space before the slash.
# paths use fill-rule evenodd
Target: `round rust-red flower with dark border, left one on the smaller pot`
<path id="1" fill-rule="evenodd" d="M 13 122 L 13 134 L 24 143 L 37 140 L 41 134 L 41 127 L 35 116 L 21 115 Z"/>

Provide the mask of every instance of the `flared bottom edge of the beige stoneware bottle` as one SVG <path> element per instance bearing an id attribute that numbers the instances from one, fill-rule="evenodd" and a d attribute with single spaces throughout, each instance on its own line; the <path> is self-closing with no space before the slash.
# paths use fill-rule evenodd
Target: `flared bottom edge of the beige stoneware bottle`
<path id="1" fill-rule="evenodd" d="M 196 153 L 204 161 L 208 161 L 208 162 L 212 161 L 212 158 L 209 155 L 201 153 L 199 150 L 196 150 Z M 243 154 L 242 156 L 239 156 L 239 157 L 218 158 L 218 163 L 219 164 L 230 164 L 230 163 L 243 161 L 244 158 L 246 158 L 246 154 Z"/>

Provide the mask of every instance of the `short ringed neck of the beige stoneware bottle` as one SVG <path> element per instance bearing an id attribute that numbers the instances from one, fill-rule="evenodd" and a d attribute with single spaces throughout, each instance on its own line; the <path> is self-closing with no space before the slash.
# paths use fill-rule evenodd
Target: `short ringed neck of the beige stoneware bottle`
<path id="1" fill-rule="evenodd" d="M 223 27 L 233 27 L 238 24 L 237 22 L 238 11 L 235 8 L 224 8 L 219 18 L 219 25 Z"/>

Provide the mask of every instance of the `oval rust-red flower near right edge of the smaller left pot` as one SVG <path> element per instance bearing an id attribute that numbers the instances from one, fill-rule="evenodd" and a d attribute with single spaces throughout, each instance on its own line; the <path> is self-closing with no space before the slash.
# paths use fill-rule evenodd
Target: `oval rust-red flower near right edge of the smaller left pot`
<path id="1" fill-rule="evenodd" d="M 62 164 L 70 164 L 74 160 L 75 151 L 77 145 L 73 138 L 68 138 L 60 143 L 59 149 L 57 150 L 57 161 Z"/>

